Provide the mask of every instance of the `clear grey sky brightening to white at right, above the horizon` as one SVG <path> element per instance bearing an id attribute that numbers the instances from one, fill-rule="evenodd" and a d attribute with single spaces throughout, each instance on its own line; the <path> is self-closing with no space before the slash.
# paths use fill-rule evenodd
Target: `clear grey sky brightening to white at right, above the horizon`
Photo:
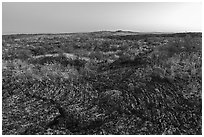
<path id="1" fill-rule="evenodd" d="M 201 2 L 3 2 L 2 33 L 202 31 Z"/>

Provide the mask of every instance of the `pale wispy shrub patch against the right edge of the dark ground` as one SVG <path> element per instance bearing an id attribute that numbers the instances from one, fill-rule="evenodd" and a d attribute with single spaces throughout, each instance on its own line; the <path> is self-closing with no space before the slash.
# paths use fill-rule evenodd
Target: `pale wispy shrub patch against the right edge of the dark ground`
<path id="1" fill-rule="evenodd" d="M 201 99 L 202 61 L 199 52 L 175 54 L 153 68 L 159 68 L 157 71 L 153 69 L 154 75 L 180 81 L 186 98 Z"/>

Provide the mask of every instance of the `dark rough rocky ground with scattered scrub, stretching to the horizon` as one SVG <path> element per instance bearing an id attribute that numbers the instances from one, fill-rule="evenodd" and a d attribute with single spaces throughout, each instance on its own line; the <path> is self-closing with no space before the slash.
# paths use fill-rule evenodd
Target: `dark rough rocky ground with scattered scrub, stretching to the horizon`
<path id="1" fill-rule="evenodd" d="M 201 135 L 200 37 L 112 33 L 3 37 L 2 133 Z"/>

